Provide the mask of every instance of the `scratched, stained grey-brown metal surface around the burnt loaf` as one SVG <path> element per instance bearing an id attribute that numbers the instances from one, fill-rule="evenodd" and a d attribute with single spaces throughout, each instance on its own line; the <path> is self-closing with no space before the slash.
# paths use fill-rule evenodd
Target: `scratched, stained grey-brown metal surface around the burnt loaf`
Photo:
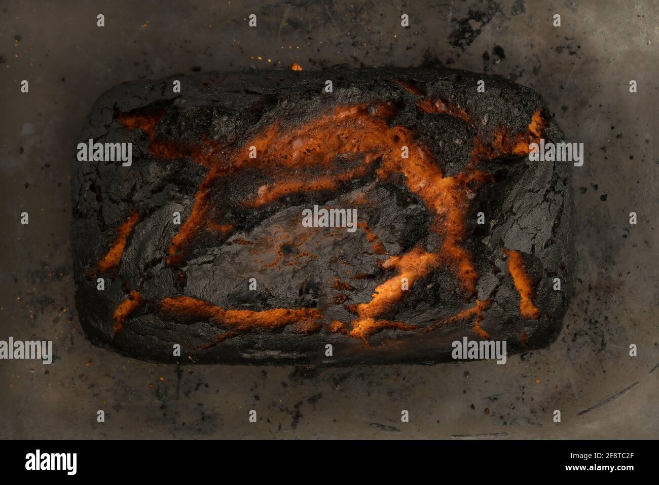
<path id="1" fill-rule="evenodd" d="M 0 361 L 0 437 L 659 436 L 659 5 L 31 4 L 0 7 L 0 339 L 54 340 L 56 357 L 51 366 Z M 96 27 L 98 13 L 105 28 Z M 246 26 L 250 13 L 256 29 Z M 401 13 L 411 28 L 401 28 Z M 544 96 L 567 139 L 586 147 L 573 171 L 576 294 L 550 348 L 505 366 L 316 370 L 147 364 L 84 339 L 73 308 L 68 177 L 94 100 L 134 79 L 295 61 L 303 69 L 434 61 L 500 74 Z M 28 94 L 19 92 L 22 79 Z M 24 210 L 29 226 L 18 222 Z M 632 210 L 637 226 L 629 226 Z"/>

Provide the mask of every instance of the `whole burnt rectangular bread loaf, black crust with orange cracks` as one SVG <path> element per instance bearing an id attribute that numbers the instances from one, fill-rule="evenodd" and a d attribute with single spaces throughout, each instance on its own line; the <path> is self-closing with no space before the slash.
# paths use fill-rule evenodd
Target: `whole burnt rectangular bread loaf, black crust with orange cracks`
<path id="1" fill-rule="evenodd" d="M 451 69 L 121 84 L 92 108 L 72 180 L 82 328 L 154 362 L 547 346 L 571 290 L 572 192 L 568 163 L 530 162 L 540 139 L 563 134 L 536 92 Z"/>

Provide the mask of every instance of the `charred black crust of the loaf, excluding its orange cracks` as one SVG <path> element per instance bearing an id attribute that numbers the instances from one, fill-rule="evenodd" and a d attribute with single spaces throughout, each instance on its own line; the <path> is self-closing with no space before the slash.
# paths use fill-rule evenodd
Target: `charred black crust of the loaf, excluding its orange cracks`
<path id="1" fill-rule="evenodd" d="M 325 81 L 333 82 L 333 93 L 322 92 Z M 174 80 L 181 81 L 182 94 L 173 93 Z M 405 90 L 397 82 L 413 83 L 421 94 Z M 476 92 L 484 80 L 486 92 Z M 450 113 L 426 113 L 415 107 L 419 99 L 441 99 L 469 113 L 470 121 Z M 171 224 L 174 210 L 182 220 L 190 214 L 194 194 L 208 168 L 189 158 L 156 160 L 150 153 L 150 137 L 140 129 L 128 130 L 117 123 L 117 113 L 163 110 L 156 135 L 163 139 L 202 143 L 210 137 L 217 146 L 243 145 L 274 121 L 293 127 L 306 123 L 334 106 L 390 102 L 397 113 L 389 123 L 412 129 L 420 143 L 438 159 L 447 176 L 459 174 L 469 164 L 473 139 L 492 139 L 497 129 L 520 133 L 530 116 L 541 110 L 546 141 L 563 141 L 563 133 L 530 88 L 501 77 L 445 68 L 367 68 L 324 72 L 244 71 L 174 76 L 161 81 L 127 82 L 96 101 L 80 136 L 103 142 L 132 143 L 132 166 L 117 162 L 77 162 L 72 178 L 73 221 L 71 226 L 76 306 L 80 323 L 94 344 L 113 348 L 132 358 L 153 362 L 224 364 L 324 364 L 359 365 L 451 361 L 451 342 L 472 333 L 472 321 L 456 321 L 428 333 L 384 330 L 360 339 L 326 328 L 302 335 L 286 327 L 279 331 L 253 331 L 217 342 L 226 329 L 209 322 L 194 325 L 161 319 L 154 311 L 163 298 L 194 296 L 217 306 L 264 310 L 275 307 L 317 307 L 326 311 L 326 322 L 344 319 L 349 311 L 335 305 L 336 294 L 328 281 L 339 278 L 355 288 L 346 304 L 368 302 L 374 288 L 387 276 L 378 267 L 365 238 L 340 239 L 318 253 L 315 263 L 283 267 L 260 275 L 257 292 L 246 292 L 247 247 L 236 243 L 216 245 L 214 235 L 199 234 L 181 268 L 167 265 L 165 257 L 177 228 Z M 358 162 L 358 161 L 357 161 Z M 343 160 L 341 163 L 357 163 Z M 377 162 L 376 162 L 377 163 Z M 374 170 L 377 166 L 374 166 Z M 480 323 L 493 340 L 507 340 L 509 354 L 548 346 L 556 339 L 572 292 L 572 189 L 567 162 L 529 162 L 524 156 L 509 156 L 481 164 L 497 180 L 476 193 L 468 221 L 476 213 L 488 213 L 488 223 L 467 224 L 465 247 L 473 256 L 480 278 L 477 298 L 494 292 L 494 304 Z M 244 172 L 240 183 L 227 183 L 227 197 L 243 197 L 263 182 L 258 170 Z M 370 203 L 360 207 L 369 226 L 380 232 L 389 255 L 409 250 L 415 242 L 432 243 L 428 209 L 415 194 L 395 180 L 374 183 L 374 173 L 346 181 L 333 191 L 291 195 L 285 201 L 258 209 L 223 205 L 214 199 L 219 214 L 229 213 L 241 232 L 261 230 L 265 220 L 276 224 L 291 207 L 335 203 L 345 206 L 348 195 L 368 187 Z M 121 265 L 103 275 L 105 290 L 96 289 L 92 269 L 116 238 L 117 228 L 130 212 L 139 220 L 127 238 Z M 297 212 L 296 212 L 297 213 Z M 265 229 L 264 229 L 265 230 Z M 356 233 L 357 234 L 357 233 Z M 231 241 L 230 241 L 231 242 Z M 507 273 L 503 248 L 523 254 L 525 267 L 534 282 L 534 303 L 539 320 L 522 319 L 520 296 Z M 343 251 L 341 251 L 343 249 Z M 295 251 L 295 248 L 288 248 Z M 240 253 L 244 251 L 244 253 Z M 340 256 L 339 256 L 340 254 Z M 340 264 L 337 263 L 340 259 Z M 242 265 L 242 266 L 241 266 Z M 351 267 L 368 278 L 351 279 L 338 269 Z M 186 277 L 179 275 L 185 270 Z M 247 271 L 248 273 L 248 271 Z M 553 279 L 560 278 L 561 290 L 554 291 Z M 389 317 L 405 323 L 430 325 L 473 304 L 465 299 L 447 269 L 438 269 L 415 282 Z M 130 315 L 121 332 L 113 333 L 111 315 L 139 290 L 145 303 Z M 347 319 L 347 320 L 346 320 Z M 521 335 L 524 335 L 522 338 Z M 181 344 L 181 357 L 173 356 L 173 344 Z M 333 356 L 325 356 L 326 344 Z"/>

